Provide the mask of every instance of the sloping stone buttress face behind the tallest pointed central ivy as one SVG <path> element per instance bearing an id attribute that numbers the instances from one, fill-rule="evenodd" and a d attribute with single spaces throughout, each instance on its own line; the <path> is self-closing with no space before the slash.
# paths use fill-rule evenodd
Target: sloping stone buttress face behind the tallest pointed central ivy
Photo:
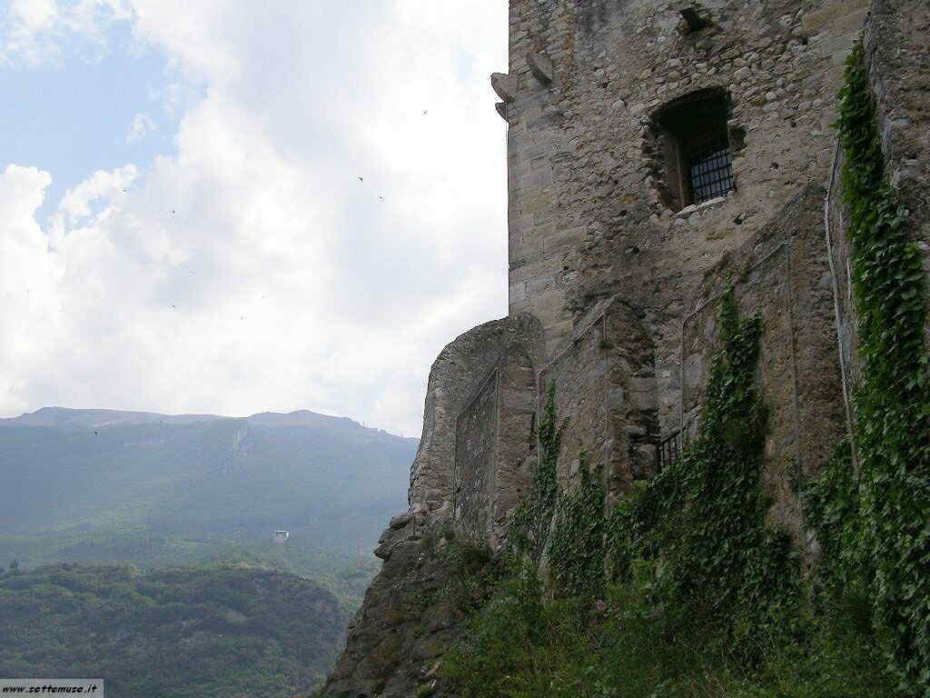
<path id="1" fill-rule="evenodd" d="M 764 482 L 771 516 L 804 550 L 810 537 L 797 485 L 817 473 L 846 434 L 823 235 L 826 191 L 806 187 L 705 277 L 684 323 L 684 432 L 693 434 L 720 349 L 719 299 L 732 288 L 740 315 L 762 319 L 758 384 L 768 410 Z"/>

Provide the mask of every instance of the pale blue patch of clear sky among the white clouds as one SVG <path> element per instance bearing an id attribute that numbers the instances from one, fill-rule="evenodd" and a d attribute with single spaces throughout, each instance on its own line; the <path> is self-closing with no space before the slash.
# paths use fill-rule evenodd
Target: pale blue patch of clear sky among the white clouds
<path id="1" fill-rule="evenodd" d="M 0 166 L 33 166 L 52 176 L 38 221 L 98 169 L 133 163 L 144 171 L 156 155 L 174 154 L 179 117 L 203 96 L 164 52 L 134 42 L 127 22 L 113 25 L 107 39 L 102 52 L 71 34 L 60 44 L 60 60 L 0 67 Z M 130 138 L 138 114 L 146 128 Z"/>

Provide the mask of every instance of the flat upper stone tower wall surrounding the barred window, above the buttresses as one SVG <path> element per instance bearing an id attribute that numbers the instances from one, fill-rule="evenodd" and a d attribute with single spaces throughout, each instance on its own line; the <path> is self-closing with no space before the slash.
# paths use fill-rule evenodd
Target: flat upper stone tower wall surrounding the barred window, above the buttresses
<path id="1" fill-rule="evenodd" d="M 690 3 L 688 3 L 690 5 Z M 688 31 L 672 2 L 511 3 L 511 308 L 554 354 L 578 317 L 619 294 L 656 344 L 661 431 L 677 423 L 678 348 L 704 273 L 808 181 L 826 183 L 833 96 L 866 0 L 704 2 Z M 551 66 L 550 66 L 551 63 Z M 663 203 L 653 119 L 700 89 L 732 99 L 736 190 Z"/>

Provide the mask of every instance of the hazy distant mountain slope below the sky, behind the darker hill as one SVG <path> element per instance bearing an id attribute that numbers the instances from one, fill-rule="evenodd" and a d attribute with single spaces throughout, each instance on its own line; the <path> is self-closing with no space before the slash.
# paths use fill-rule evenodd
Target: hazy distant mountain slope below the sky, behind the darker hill
<path id="1" fill-rule="evenodd" d="M 370 551 L 384 521 L 405 506 L 417 447 L 319 415 L 137 423 L 115 412 L 104 426 L 89 410 L 65 417 L 0 424 L 0 563 L 245 560 L 311 576 L 350 606 L 378 568 Z M 272 544 L 276 529 L 290 530 L 286 544 Z"/>

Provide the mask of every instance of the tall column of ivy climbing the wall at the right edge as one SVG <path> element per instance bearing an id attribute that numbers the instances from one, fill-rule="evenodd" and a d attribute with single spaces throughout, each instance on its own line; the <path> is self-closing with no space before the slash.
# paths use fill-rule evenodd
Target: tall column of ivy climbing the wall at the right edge
<path id="1" fill-rule="evenodd" d="M 861 41 L 846 61 L 837 128 L 858 315 L 858 473 L 837 459 L 813 483 L 834 586 L 859 580 L 901 688 L 930 697 L 930 387 L 926 282 L 908 211 L 885 181 Z M 856 477 L 857 476 L 857 477 Z M 842 584 L 836 583 L 836 578 Z"/>

